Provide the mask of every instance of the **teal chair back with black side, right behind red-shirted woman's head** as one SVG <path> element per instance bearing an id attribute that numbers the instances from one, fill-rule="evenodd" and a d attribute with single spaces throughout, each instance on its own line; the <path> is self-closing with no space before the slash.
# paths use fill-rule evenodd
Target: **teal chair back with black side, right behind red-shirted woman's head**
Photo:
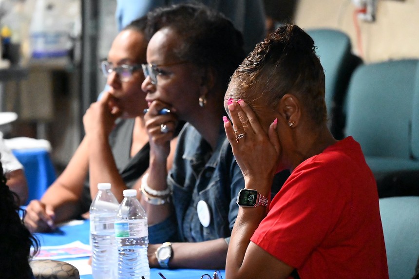
<path id="1" fill-rule="evenodd" d="M 351 41 L 341 31 L 333 29 L 308 29 L 314 40 L 316 54 L 324 68 L 325 101 L 329 117 L 329 128 L 341 139 L 345 124 L 344 99 L 349 79 L 362 60 L 351 53 Z"/>

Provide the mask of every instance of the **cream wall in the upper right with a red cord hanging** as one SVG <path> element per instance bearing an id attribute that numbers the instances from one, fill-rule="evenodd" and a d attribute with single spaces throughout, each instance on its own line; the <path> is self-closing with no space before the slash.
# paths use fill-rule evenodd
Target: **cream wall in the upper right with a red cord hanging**
<path id="1" fill-rule="evenodd" d="M 334 28 L 351 37 L 355 54 L 357 36 L 351 0 L 300 0 L 295 23 L 306 28 Z M 419 58 L 419 0 L 378 0 L 376 21 L 359 21 L 365 63 Z"/>

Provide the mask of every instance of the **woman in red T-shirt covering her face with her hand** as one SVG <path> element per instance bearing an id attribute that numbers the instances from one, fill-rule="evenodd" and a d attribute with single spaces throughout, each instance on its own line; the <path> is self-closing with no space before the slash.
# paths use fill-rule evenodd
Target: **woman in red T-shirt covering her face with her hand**
<path id="1" fill-rule="evenodd" d="M 327 128 L 313 39 L 292 24 L 268 35 L 231 77 L 225 107 L 245 178 L 226 278 L 388 279 L 375 179 L 360 145 Z"/>

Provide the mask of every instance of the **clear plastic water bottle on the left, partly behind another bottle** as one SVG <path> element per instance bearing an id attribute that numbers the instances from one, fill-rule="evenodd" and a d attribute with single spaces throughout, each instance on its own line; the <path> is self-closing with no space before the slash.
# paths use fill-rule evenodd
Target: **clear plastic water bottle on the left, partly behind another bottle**
<path id="1" fill-rule="evenodd" d="M 90 243 L 92 245 L 92 274 L 94 279 L 115 279 L 117 249 L 114 222 L 118 201 L 110 183 L 97 184 L 99 190 L 90 206 Z"/>

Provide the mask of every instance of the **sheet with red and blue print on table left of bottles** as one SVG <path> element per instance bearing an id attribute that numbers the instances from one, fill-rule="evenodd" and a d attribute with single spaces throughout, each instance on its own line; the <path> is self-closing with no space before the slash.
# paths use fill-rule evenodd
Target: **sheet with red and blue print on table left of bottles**
<path id="1" fill-rule="evenodd" d="M 90 245 L 80 241 L 71 242 L 64 245 L 41 246 L 41 250 L 34 260 L 59 260 L 66 258 L 88 257 L 92 254 Z"/>

